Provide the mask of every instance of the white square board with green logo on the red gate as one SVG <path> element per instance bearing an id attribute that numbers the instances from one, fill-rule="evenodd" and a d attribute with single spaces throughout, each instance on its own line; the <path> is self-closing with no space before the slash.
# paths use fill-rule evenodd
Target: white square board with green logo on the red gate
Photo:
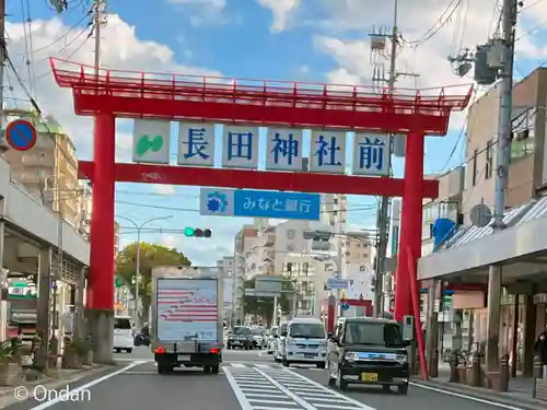
<path id="1" fill-rule="evenodd" d="M 136 119 L 133 127 L 133 162 L 170 163 L 171 121 Z"/>

